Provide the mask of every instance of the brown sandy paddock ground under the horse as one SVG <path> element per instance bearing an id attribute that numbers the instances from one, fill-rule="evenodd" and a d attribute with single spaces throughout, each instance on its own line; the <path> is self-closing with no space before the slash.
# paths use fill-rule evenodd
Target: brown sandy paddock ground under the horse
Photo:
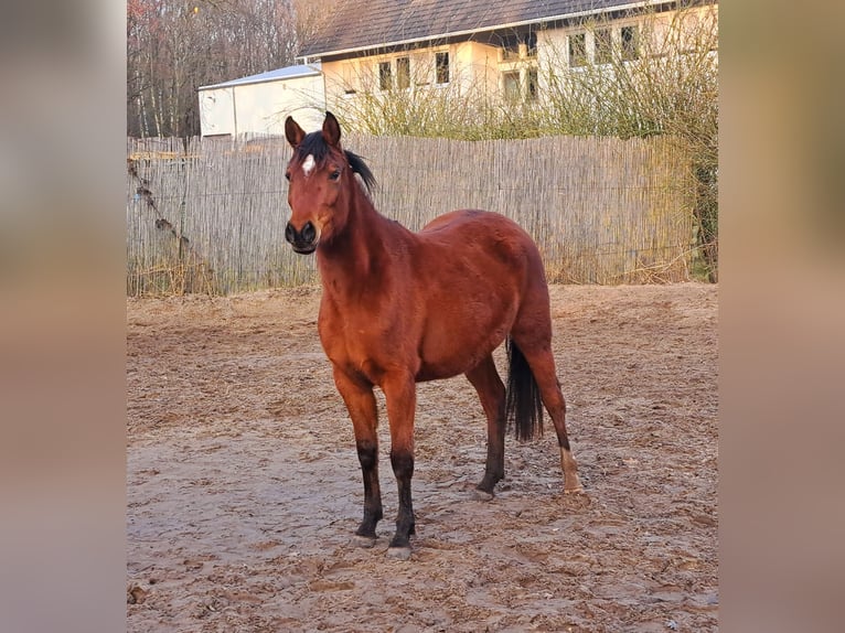
<path id="1" fill-rule="evenodd" d="M 385 521 L 374 548 L 351 539 L 363 486 L 318 288 L 127 300 L 128 631 L 716 631 L 717 292 L 552 288 L 585 496 L 563 495 L 546 418 L 472 500 L 477 396 L 420 385 L 408 561 L 385 556 L 381 395 Z"/>

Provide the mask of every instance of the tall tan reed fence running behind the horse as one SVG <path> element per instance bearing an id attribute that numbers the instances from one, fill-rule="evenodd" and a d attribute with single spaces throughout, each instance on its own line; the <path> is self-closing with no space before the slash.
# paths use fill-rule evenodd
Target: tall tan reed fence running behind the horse
<path id="1" fill-rule="evenodd" d="M 550 281 L 691 276 L 695 185 L 667 137 L 457 141 L 350 133 L 382 213 L 411 229 L 485 208 L 537 242 Z M 317 282 L 285 242 L 284 139 L 129 139 L 127 293 L 231 293 Z"/>

